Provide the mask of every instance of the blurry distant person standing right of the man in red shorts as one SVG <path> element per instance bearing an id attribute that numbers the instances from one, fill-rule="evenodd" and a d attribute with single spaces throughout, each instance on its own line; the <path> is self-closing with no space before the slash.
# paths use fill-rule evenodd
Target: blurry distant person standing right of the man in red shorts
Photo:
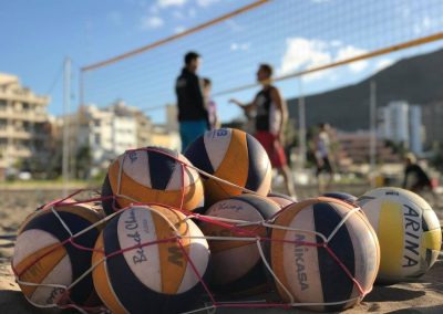
<path id="1" fill-rule="evenodd" d="M 318 180 L 319 192 L 322 193 L 326 188 L 329 188 L 333 179 L 333 169 L 330 160 L 330 146 L 331 146 L 331 140 L 329 137 L 330 126 L 327 123 L 320 123 L 318 125 L 318 128 L 319 128 L 318 134 L 315 138 L 315 156 L 317 163 L 316 176 Z M 329 179 L 326 187 L 323 187 L 321 181 L 322 172 L 329 174 Z"/>

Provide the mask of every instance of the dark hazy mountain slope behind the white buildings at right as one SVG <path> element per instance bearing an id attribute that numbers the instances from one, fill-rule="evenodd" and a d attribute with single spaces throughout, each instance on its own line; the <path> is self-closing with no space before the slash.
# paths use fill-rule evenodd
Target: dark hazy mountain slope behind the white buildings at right
<path id="1" fill-rule="evenodd" d="M 440 69 L 440 70 L 439 70 Z M 370 82 L 377 83 L 377 106 L 406 101 L 425 106 L 443 102 L 443 50 L 398 61 L 364 81 L 305 97 L 307 126 L 328 122 L 342 130 L 369 129 Z M 298 121 L 298 100 L 288 101 Z"/>

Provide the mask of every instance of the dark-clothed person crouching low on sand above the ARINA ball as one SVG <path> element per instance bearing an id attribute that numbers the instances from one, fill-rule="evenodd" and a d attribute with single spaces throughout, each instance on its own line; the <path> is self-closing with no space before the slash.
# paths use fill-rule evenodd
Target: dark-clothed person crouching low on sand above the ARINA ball
<path id="1" fill-rule="evenodd" d="M 404 189 L 419 195 L 424 190 L 433 190 L 429 176 L 416 163 L 416 158 L 412 153 L 406 154 L 404 158 L 404 179 L 402 186 Z"/>

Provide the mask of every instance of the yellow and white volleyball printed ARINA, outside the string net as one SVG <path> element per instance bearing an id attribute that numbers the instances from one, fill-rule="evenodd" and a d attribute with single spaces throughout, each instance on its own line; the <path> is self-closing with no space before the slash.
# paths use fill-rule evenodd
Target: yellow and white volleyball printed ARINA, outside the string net
<path id="1" fill-rule="evenodd" d="M 379 237 L 378 281 L 413 280 L 435 263 L 442 230 L 439 218 L 423 198 L 400 188 L 379 188 L 361 196 L 358 203 Z"/>

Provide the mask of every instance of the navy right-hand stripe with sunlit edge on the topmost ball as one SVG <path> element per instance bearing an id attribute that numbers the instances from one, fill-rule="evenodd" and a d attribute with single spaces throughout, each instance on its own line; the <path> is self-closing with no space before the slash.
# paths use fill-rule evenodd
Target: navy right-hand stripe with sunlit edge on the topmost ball
<path id="1" fill-rule="evenodd" d="M 267 195 L 269 191 L 261 191 L 260 187 L 267 176 L 270 176 L 270 164 L 267 158 L 254 158 L 254 156 L 266 156 L 262 146 L 249 134 L 246 134 L 246 142 L 248 147 L 249 165 L 248 177 L 245 187 L 253 191 L 258 191 Z"/>

